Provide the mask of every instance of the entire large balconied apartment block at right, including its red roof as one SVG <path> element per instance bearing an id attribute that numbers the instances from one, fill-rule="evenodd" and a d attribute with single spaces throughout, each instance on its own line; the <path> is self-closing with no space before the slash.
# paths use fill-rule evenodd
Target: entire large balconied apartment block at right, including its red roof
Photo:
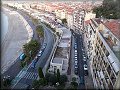
<path id="1" fill-rule="evenodd" d="M 96 88 L 120 87 L 119 34 L 119 20 L 90 19 L 85 21 L 84 44 Z"/>

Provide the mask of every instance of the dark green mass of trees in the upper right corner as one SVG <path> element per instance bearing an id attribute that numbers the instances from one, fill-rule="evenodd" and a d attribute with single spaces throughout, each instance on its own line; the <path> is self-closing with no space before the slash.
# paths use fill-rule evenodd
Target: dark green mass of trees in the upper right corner
<path id="1" fill-rule="evenodd" d="M 101 6 L 93 8 L 93 12 L 96 13 L 97 18 L 103 16 L 107 19 L 119 19 L 119 11 L 120 0 L 104 0 Z"/>

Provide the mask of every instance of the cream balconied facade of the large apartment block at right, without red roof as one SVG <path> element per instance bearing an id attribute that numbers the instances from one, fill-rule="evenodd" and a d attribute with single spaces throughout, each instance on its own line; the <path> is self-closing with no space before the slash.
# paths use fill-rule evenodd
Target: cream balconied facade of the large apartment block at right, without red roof
<path id="1" fill-rule="evenodd" d="M 108 45 L 104 34 L 101 33 L 108 29 L 103 25 L 94 25 L 92 22 L 85 25 L 84 43 L 90 60 L 94 86 L 112 89 L 115 88 L 115 83 L 118 83 L 120 62 Z"/>

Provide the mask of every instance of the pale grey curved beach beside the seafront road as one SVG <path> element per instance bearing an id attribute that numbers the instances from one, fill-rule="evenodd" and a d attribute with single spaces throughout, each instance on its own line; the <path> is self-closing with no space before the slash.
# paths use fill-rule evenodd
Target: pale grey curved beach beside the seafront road
<path id="1" fill-rule="evenodd" d="M 1 72 L 5 72 L 22 53 L 22 46 L 28 40 L 28 32 L 17 13 L 7 13 L 8 32 L 2 42 Z"/>

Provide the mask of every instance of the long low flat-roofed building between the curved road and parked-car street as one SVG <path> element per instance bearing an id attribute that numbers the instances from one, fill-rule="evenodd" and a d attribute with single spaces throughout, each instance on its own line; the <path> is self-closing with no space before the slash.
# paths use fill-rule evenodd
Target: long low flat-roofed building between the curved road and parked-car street
<path id="1" fill-rule="evenodd" d="M 57 46 L 54 57 L 53 59 L 51 59 L 49 72 L 57 72 L 57 69 L 59 69 L 60 74 L 67 74 L 68 62 L 70 57 L 71 32 L 64 27 L 59 29 L 63 31 L 63 34 Z"/>

